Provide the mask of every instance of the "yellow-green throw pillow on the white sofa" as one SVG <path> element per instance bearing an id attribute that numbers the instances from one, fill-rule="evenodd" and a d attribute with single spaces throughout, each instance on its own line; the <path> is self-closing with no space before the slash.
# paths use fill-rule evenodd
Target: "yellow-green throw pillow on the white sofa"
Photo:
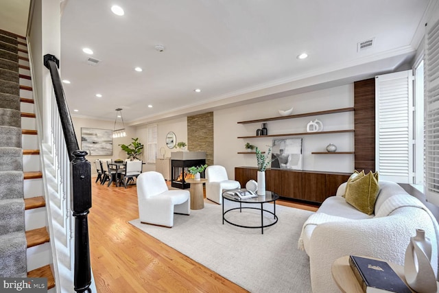
<path id="1" fill-rule="evenodd" d="M 367 175 L 360 173 L 347 183 L 345 198 L 348 204 L 371 215 L 375 209 L 378 192 L 378 172 L 369 172 Z"/>

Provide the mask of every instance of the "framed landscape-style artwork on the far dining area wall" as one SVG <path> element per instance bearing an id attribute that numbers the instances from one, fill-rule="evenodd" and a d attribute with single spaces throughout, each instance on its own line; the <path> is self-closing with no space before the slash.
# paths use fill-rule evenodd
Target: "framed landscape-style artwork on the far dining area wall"
<path id="1" fill-rule="evenodd" d="M 81 128 L 81 150 L 90 156 L 112 156 L 112 130 Z"/>

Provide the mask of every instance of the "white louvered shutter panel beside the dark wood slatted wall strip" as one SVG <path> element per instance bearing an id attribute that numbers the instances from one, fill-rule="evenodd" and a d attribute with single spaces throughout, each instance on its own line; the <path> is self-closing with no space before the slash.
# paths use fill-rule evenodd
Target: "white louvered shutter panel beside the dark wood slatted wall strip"
<path id="1" fill-rule="evenodd" d="M 380 180 L 413 183 L 413 75 L 375 78 L 375 169 Z"/>

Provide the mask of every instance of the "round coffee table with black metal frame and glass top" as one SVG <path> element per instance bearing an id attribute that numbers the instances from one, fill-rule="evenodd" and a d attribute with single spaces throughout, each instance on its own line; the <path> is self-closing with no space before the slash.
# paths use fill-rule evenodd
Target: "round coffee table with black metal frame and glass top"
<path id="1" fill-rule="evenodd" d="M 222 224 L 224 225 L 224 222 L 228 222 L 228 224 L 231 224 L 233 226 L 238 226 L 238 227 L 242 227 L 242 228 L 261 228 L 261 233 L 263 234 L 263 228 L 265 227 L 269 227 L 269 226 L 273 226 L 274 224 L 277 223 L 277 215 L 276 215 L 276 200 L 279 199 L 279 196 L 277 194 L 275 194 L 272 191 L 265 191 L 265 196 L 258 196 L 257 198 L 248 198 L 245 200 L 241 200 L 241 198 L 239 198 L 238 196 L 234 196 L 233 195 L 233 191 L 246 191 L 246 189 L 232 189 L 232 190 L 226 190 L 222 193 L 222 198 L 223 198 L 223 202 L 222 202 Z M 239 202 L 239 207 L 234 207 L 232 209 L 228 209 L 226 211 L 224 211 L 224 200 L 230 200 L 232 202 Z M 268 211 L 266 209 L 263 209 L 263 204 L 265 202 L 273 202 L 273 211 Z M 242 207 L 242 204 L 246 203 L 246 204 L 258 204 L 257 207 Z M 259 207 L 260 204 L 260 207 Z M 233 222 L 230 222 L 229 220 L 226 219 L 226 213 L 228 213 L 229 211 L 234 211 L 239 209 L 239 212 L 241 213 L 242 209 L 257 209 L 259 211 L 261 211 L 261 226 L 244 226 L 244 225 L 239 225 L 239 224 L 235 224 Z M 270 224 L 263 224 L 263 212 L 267 212 L 267 213 L 271 213 L 274 217 L 274 222 L 270 222 Z"/>

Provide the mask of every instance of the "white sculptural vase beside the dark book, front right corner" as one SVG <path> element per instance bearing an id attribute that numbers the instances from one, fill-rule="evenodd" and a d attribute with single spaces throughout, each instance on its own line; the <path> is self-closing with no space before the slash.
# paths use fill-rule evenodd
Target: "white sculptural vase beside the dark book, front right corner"
<path id="1" fill-rule="evenodd" d="M 405 281 L 416 292 L 436 293 L 437 291 L 436 277 L 430 259 L 431 242 L 425 237 L 424 230 L 416 229 L 416 235 L 410 237 L 404 259 Z"/>

